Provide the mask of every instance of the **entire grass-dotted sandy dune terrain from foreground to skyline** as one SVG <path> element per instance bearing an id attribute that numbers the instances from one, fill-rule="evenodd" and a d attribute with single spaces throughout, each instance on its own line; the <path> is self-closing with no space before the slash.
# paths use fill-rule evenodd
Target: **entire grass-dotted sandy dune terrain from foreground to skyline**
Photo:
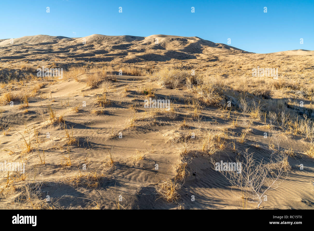
<path id="1" fill-rule="evenodd" d="M 212 163 L 248 150 L 286 156 L 262 209 L 313 209 L 313 51 L 169 35 L 10 41 L 0 40 L 0 163 L 25 173 L 0 171 L 1 208 L 256 209 Z M 42 66 L 62 78 L 37 76 Z M 152 99 L 169 110 L 145 107 Z"/>

